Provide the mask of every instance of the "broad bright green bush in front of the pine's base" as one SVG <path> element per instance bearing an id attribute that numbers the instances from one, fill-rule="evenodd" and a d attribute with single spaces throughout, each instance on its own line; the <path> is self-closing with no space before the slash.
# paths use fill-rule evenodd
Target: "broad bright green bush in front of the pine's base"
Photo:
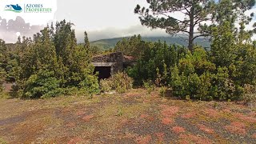
<path id="1" fill-rule="evenodd" d="M 201 52 L 198 54 L 198 51 Z M 171 86 L 175 96 L 200 100 L 238 100 L 241 97 L 242 86 L 230 77 L 228 68 L 219 66 L 216 69 L 214 63 L 202 57 L 205 55 L 202 49 L 187 55 L 171 70 Z M 200 60 L 194 61 L 197 58 Z"/>

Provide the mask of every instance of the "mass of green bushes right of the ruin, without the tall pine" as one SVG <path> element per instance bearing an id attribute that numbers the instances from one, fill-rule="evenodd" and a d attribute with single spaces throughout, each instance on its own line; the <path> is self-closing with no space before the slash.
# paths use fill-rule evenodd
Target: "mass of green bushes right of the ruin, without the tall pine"
<path id="1" fill-rule="evenodd" d="M 238 30 L 226 19 L 211 26 L 209 51 L 155 42 L 128 74 L 140 86 L 148 81 L 170 86 L 173 95 L 183 99 L 230 101 L 245 99 L 245 94 L 251 99 L 254 94 L 246 93 L 244 87 L 256 85 L 256 49 L 245 24 L 242 19 Z"/>

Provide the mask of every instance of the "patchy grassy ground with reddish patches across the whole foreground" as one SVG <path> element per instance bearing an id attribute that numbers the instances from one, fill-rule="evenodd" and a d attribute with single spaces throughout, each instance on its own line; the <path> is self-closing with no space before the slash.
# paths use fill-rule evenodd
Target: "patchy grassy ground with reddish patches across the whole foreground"
<path id="1" fill-rule="evenodd" d="M 253 143 L 256 110 L 147 94 L 0 99 L 0 143 Z"/>

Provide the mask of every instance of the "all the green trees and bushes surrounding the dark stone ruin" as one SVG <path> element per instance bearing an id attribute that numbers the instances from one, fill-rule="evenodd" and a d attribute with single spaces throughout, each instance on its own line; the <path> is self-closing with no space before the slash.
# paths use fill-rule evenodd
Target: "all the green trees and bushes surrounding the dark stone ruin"
<path id="1" fill-rule="evenodd" d="M 19 37 L 15 44 L 0 41 L 1 86 L 14 83 L 10 95 L 15 98 L 91 95 L 110 90 L 124 93 L 132 87 L 149 91 L 161 87 L 162 94 L 170 91 L 172 96 L 182 99 L 255 99 L 256 42 L 252 37 L 256 25 L 254 29 L 246 29 L 254 14 L 244 14 L 254 6 L 254 1 L 202 1 L 200 5 L 183 1 L 148 2 L 148 9 L 139 5 L 134 9 L 142 25 L 164 29 L 168 34 L 187 33 L 188 47 L 146 42 L 140 35 L 134 35 L 117 42 L 113 50 L 102 51 L 90 46 L 86 31 L 84 43 L 78 44 L 73 24 L 63 20 L 55 25 L 51 23 L 33 38 Z M 222 10 L 223 6 L 229 9 Z M 186 10 L 190 19 L 158 17 L 178 10 Z M 210 50 L 194 43 L 199 37 L 209 39 Z M 114 51 L 136 58 L 136 63 L 98 82 L 91 58 Z"/>

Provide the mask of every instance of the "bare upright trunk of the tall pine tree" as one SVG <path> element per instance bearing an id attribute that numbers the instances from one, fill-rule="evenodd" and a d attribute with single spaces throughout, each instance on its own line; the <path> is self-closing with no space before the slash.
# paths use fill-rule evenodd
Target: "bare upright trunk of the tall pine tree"
<path id="1" fill-rule="evenodd" d="M 189 50 L 193 52 L 193 44 L 194 44 L 194 5 L 191 6 L 190 9 L 190 35 L 189 35 Z"/>

